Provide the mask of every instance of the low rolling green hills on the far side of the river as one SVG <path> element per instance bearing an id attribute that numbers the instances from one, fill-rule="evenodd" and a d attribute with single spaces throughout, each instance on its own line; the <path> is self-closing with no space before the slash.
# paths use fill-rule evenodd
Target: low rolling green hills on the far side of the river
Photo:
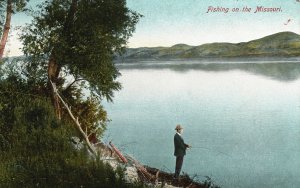
<path id="1" fill-rule="evenodd" d="M 204 36 L 205 37 L 205 36 Z M 232 57 L 300 57 L 300 35 L 280 32 L 241 43 L 209 43 L 199 46 L 128 48 L 117 59 L 192 59 Z"/>

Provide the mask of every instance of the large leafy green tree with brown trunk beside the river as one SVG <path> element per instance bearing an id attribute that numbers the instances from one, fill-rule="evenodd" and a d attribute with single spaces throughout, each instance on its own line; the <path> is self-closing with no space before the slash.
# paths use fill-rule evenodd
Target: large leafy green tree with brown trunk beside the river
<path id="1" fill-rule="evenodd" d="M 68 113 L 62 110 L 56 89 L 73 101 L 73 111 L 89 110 L 86 114 L 94 121 L 82 126 L 92 127 L 88 136 L 99 122 L 91 118 L 99 112 L 91 105 L 112 101 L 113 92 L 121 88 L 112 60 L 124 50 L 140 15 L 128 9 L 125 0 L 52 0 L 40 8 L 21 36 L 23 51 L 30 57 L 27 67 L 38 67 L 47 75 L 47 94 L 58 119 Z"/>

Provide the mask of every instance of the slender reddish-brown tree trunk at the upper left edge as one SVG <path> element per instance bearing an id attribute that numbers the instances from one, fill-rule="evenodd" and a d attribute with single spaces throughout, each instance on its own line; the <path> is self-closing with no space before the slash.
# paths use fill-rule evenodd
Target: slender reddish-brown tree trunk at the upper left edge
<path id="1" fill-rule="evenodd" d="M 12 0 L 7 0 L 7 7 L 6 7 L 6 19 L 5 19 L 5 24 L 3 28 L 3 34 L 1 38 L 1 43 L 0 43 L 0 59 L 3 57 L 5 45 L 7 42 L 9 30 L 10 30 L 10 22 L 11 22 L 11 16 L 12 16 Z"/>

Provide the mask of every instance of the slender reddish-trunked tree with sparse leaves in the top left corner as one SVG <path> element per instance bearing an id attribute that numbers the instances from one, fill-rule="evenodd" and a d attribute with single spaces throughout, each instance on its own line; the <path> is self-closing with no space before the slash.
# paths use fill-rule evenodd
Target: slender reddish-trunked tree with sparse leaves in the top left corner
<path id="1" fill-rule="evenodd" d="M 4 26 L 3 29 L 1 30 L 2 36 L 0 42 L 0 59 L 2 59 L 3 57 L 5 45 L 10 31 L 12 14 L 23 11 L 27 2 L 29 2 L 29 0 L 1 0 L 0 1 L 0 13 L 2 14 L 1 16 L 4 17 L 3 14 L 6 13 L 5 22 L 3 23 L 3 21 L 1 21 L 1 25 L 4 24 Z"/>

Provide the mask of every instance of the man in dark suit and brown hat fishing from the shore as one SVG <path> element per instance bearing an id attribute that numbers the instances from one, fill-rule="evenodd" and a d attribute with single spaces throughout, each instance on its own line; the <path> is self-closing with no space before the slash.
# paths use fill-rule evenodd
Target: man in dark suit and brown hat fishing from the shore
<path id="1" fill-rule="evenodd" d="M 178 179 L 183 163 L 183 157 L 185 156 L 185 150 L 187 148 L 190 148 L 190 146 L 188 144 L 185 144 L 183 138 L 181 137 L 183 133 L 183 128 L 181 127 L 181 125 L 177 125 L 175 130 L 176 134 L 174 136 L 174 155 L 176 156 L 176 167 L 174 178 Z"/>

